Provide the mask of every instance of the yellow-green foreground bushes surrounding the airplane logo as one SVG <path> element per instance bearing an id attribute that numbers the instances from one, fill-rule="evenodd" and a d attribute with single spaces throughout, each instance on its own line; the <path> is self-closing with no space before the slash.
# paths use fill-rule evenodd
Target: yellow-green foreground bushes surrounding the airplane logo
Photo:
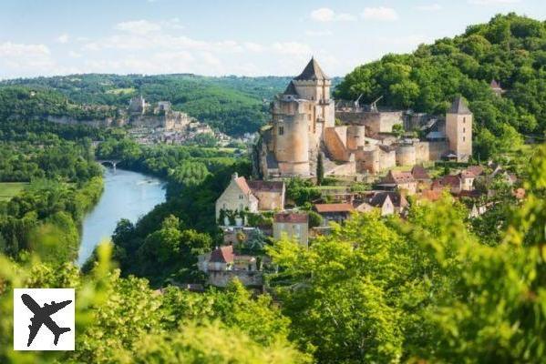
<path id="1" fill-rule="evenodd" d="M 119 278 L 109 268 L 109 246 L 81 276 L 72 264 L 60 269 L 0 256 L 0 308 L 13 309 L 14 287 L 76 288 L 75 351 L 14 351 L 11 315 L 0 318 L 3 363 L 304 363 L 309 358 L 286 339 L 288 321 L 272 299 L 253 299 L 241 285 L 194 294 L 176 288 L 153 292 L 146 280 Z"/>

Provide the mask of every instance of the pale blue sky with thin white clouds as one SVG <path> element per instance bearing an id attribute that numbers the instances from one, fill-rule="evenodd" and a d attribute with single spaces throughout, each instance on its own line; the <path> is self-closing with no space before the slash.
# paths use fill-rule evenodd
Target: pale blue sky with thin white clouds
<path id="1" fill-rule="evenodd" d="M 544 0 L 0 0 L 0 79 L 82 73 L 329 76 Z"/>

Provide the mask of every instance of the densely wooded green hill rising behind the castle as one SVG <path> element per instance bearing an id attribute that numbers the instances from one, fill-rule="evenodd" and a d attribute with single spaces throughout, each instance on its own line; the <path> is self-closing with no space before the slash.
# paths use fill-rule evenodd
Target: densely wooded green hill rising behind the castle
<path id="1" fill-rule="evenodd" d="M 491 80 L 505 93 L 495 96 Z M 470 25 L 453 38 L 419 45 L 407 55 L 387 55 L 357 66 L 336 96 L 443 114 L 454 96 L 474 113 L 475 151 L 481 157 L 509 147 L 518 133 L 546 131 L 546 23 L 513 13 Z"/>

